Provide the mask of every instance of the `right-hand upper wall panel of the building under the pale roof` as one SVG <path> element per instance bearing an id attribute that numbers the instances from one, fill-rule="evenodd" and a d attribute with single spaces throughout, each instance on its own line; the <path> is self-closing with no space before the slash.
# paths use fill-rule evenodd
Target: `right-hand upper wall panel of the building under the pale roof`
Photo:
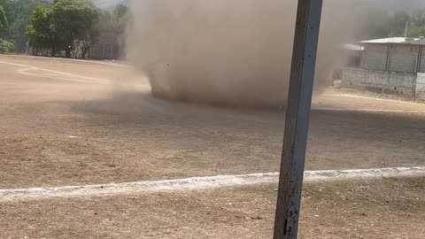
<path id="1" fill-rule="evenodd" d="M 387 70 L 416 73 L 419 49 L 419 46 L 413 45 L 390 45 Z"/>

